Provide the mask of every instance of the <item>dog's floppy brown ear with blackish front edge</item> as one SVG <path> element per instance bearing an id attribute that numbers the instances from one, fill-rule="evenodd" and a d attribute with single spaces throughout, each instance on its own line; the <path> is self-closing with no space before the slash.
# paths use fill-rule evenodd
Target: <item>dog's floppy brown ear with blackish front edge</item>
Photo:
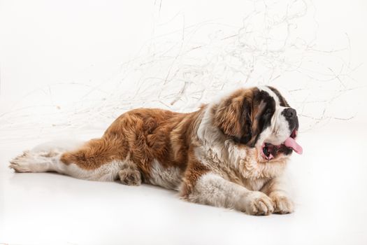
<path id="1" fill-rule="evenodd" d="M 215 110 L 214 125 L 234 141 L 246 144 L 252 138 L 251 111 L 251 102 L 243 96 L 226 99 Z"/>

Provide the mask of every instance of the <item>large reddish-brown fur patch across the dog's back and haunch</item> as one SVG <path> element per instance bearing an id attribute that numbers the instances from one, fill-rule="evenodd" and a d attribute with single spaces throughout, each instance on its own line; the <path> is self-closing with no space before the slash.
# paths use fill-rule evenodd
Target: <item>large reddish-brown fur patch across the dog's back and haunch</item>
<path id="1" fill-rule="evenodd" d="M 199 126 L 203 106 L 193 113 L 174 113 L 161 109 L 135 109 L 122 114 L 101 139 L 62 155 L 66 165 L 96 169 L 112 160 L 134 162 L 149 179 L 153 160 L 163 167 L 186 169 L 194 129 Z"/>

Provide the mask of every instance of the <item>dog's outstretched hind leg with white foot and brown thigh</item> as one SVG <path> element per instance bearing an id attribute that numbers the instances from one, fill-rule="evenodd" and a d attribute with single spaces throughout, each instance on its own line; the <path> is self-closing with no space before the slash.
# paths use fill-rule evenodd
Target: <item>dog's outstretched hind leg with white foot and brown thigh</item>
<path id="1" fill-rule="evenodd" d="M 78 179 L 115 181 L 127 162 L 121 141 L 92 139 L 74 151 L 26 151 L 10 161 L 16 172 L 58 172 Z"/>

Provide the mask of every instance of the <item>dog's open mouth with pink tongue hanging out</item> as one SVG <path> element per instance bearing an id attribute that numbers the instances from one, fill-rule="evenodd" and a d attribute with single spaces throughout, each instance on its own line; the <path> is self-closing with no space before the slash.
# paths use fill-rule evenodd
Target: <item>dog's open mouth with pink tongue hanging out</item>
<path id="1" fill-rule="evenodd" d="M 265 143 L 261 146 L 261 155 L 266 160 L 272 160 L 276 158 L 280 153 L 288 155 L 295 151 L 298 154 L 303 153 L 302 146 L 298 145 L 296 142 L 297 130 L 293 130 L 292 134 L 280 145 L 275 146 L 270 143 Z"/>

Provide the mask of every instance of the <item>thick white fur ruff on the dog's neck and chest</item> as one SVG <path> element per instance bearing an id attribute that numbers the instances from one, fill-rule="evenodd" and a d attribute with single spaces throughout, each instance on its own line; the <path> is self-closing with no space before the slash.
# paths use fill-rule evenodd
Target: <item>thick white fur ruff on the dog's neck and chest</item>
<path id="1" fill-rule="evenodd" d="M 199 125 L 198 138 L 201 140 L 201 146 L 194 149 L 195 156 L 206 165 L 211 171 L 223 176 L 236 176 L 238 182 L 242 185 L 250 185 L 251 190 L 259 190 L 261 183 L 265 179 L 273 178 L 280 174 L 285 168 L 285 160 L 263 162 L 259 164 L 261 155 L 257 154 L 256 148 L 248 148 L 247 146 L 238 146 L 232 140 L 224 140 L 224 136 L 217 127 L 213 126 L 213 118 L 210 115 L 210 104 L 206 109 L 203 119 Z M 260 146 L 264 139 L 271 135 L 273 128 L 270 127 L 261 134 L 259 142 Z M 288 134 L 289 136 L 289 134 Z M 261 139 L 263 137 L 263 139 Z M 285 139 L 283 139 L 284 141 Z M 222 143 L 224 142 L 224 144 Z M 246 179 L 257 179 L 256 183 L 246 181 Z"/>

